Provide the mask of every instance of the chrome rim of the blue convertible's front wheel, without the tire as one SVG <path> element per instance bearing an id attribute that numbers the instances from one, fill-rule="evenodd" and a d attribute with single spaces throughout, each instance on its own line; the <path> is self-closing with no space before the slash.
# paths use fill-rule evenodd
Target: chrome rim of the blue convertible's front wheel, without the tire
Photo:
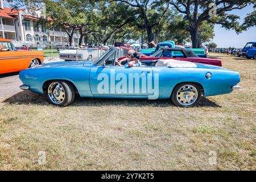
<path id="1" fill-rule="evenodd" d="M 54 104 L 61 104 L 65 99 L 65 90 L 59 82 L 52 82 L 48 86 L 48 96 Z"/>

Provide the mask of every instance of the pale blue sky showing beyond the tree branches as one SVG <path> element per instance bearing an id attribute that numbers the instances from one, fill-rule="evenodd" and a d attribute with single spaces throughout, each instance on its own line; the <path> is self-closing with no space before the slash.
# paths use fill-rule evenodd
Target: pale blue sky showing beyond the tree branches
<path id="1" fill-rule="evenodd" d="M 9 3 L 4 1 L 4 6 L 9 6 Z M 253 6 L 247 6 L 242 10 L 233 10 L 229 11 L 229 14 L 240 15 L 240 23 L 243 22 L 243 19 L 247 14 L 253 11 Z M 226 30 L 221 28 L 220 25 L 214 27 L 215 37 L 213 42 L 217 44 L 217 47 L 236 47 L 242 48 L 247 42 L 256 42 L 256 27 L 252 27 L 247 31 L 243 31 L 241 34 L 236 34 L 234 30 Z"/>

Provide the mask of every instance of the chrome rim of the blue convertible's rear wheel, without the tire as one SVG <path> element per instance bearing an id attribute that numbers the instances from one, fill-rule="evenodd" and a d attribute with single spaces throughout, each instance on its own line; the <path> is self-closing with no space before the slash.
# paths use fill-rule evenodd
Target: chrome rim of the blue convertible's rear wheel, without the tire
<path id="1" fill-rule="evenodd" d="M 192 85 L 182 86 L 176 95 L 177 101 L 183 106 L 190 106 L 197 100 L 197 89 Z"/>

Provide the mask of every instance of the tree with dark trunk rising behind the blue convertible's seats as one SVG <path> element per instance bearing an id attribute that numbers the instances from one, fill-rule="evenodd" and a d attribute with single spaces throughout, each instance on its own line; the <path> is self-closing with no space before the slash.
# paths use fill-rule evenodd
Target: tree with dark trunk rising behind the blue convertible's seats
<path id="1" fill-rule="evenodd" d="M 153 28 L 158 26 L 163 20 L 164 15 L 169 9 L 169 3 L 163 1 L 150 1 L 150 0 L 112 0 L 110 2 L 121 2 L 135 8 L 139 13 L 139 18 L 143 19 L 143 25 L 139 28 L 145 28 L 147 31 L 148 46 L 152 47 L 150 42 L 155 40 Z"/>

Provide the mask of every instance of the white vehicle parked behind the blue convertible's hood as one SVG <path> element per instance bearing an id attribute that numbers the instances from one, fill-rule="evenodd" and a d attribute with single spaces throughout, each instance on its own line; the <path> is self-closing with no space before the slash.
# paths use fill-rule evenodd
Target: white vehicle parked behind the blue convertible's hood
<path id="1" fill-rule="evenodd" d="M 60 51 L 60 59 L 65 61 L 95 60 L 104 54 L 108 48 L 79 48 Z"/>

